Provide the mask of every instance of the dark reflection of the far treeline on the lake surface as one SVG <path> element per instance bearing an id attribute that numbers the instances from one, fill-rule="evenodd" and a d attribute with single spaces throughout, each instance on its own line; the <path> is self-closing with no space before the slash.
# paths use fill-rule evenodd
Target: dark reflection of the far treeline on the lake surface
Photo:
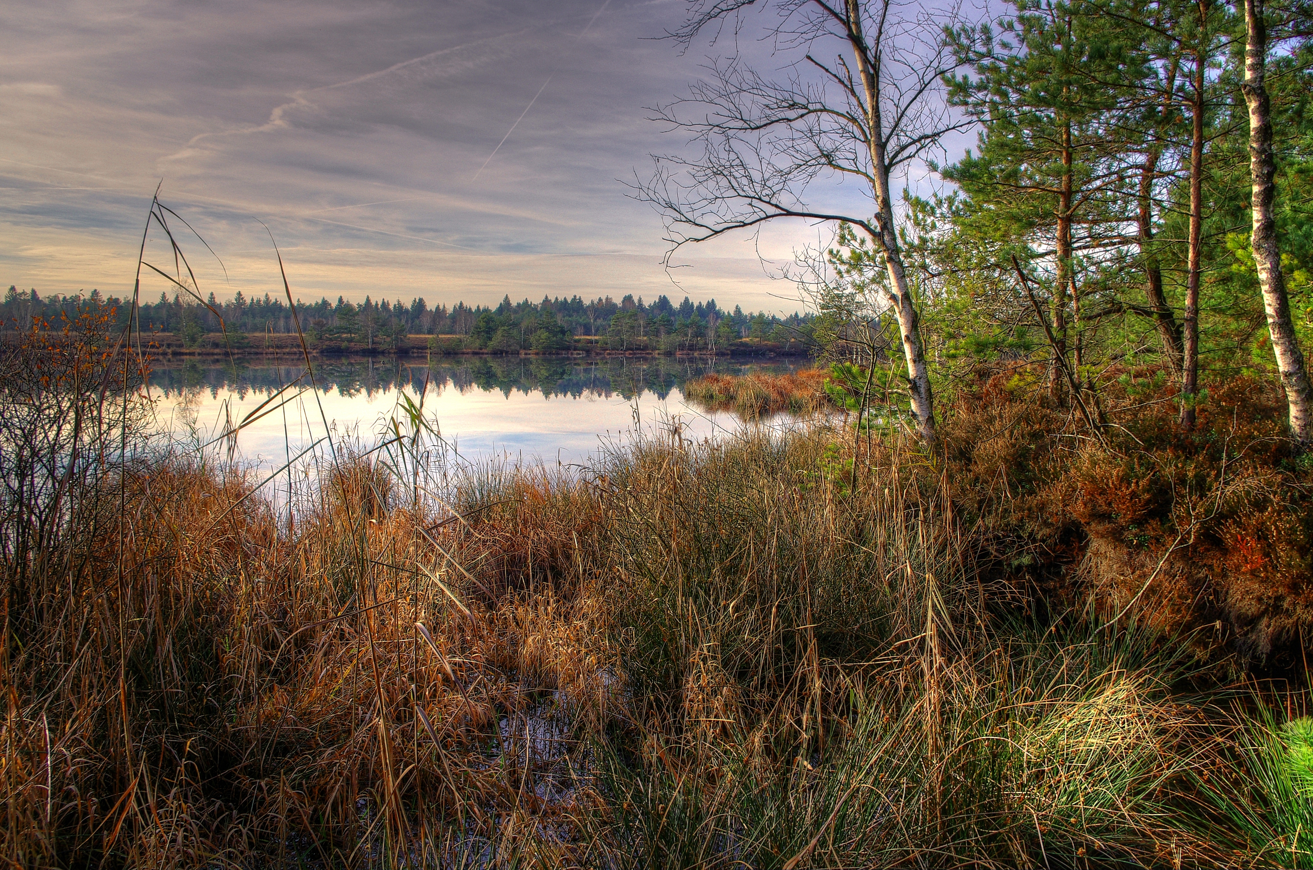
<path id="1" fill-rule="evenodd" d="M 331 360 L 315 363 L 315 383 L 324 392 L 336 391 L 343 396 L 365 395 L 410 386 L 419 392 L 425 382 L 431 390 L 441 392 L 452 387 L 461 394 L 470 390 L 498 391 L 509 398 L 512 392 L 540 391 L 546 396 L 633 399 L 643 391 L 664 399 L 671 390 L 684 386 L 689 378 L 708 371 L 742 374 L 751 370 L 792 371 L 796 363 L 734 363 L 727 361 L 674 360 L 668 357 L 641 357 L 618 360 L 579 360 L 569 357 L 465 357 L 442 360 L 432 366 L 414 365 L 400 360 Z M 270 394 L 303 378 L 299 365 L 201 365 L 188 360 L 181 366 L 156 367 L 151 384 L 164 396 L 183 396 L 205 390 L 217 399 L 219 391 L 235 392 L 246 398 L 249 392 Z M 310 379 L 302 379 L 310 386 Z"/>

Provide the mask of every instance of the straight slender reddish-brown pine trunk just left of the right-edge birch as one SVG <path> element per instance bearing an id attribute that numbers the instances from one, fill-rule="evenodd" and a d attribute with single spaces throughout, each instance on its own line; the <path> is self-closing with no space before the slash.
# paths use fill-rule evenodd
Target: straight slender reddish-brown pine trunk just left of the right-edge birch
<path id="1" fill-rule="evenodd" d="M 1182 348 L 1180 425 L 1195 428 L 1195 396 L 1199 394 L 1199 282 L 1203 276 L 1204 236 L 1204 75 L 1208 52 L 1204 51 L 1208 26 L 1207 0 L 1199 3 L 1199 46 L 1195 50 L 1194 94 L 1190 101 L 1190 256 L 1186 272 L 1186 318 Z"/>

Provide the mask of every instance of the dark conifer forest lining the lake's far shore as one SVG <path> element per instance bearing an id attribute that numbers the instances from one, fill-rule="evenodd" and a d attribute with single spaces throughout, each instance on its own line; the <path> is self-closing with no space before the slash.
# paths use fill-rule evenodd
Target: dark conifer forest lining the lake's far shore
<path id="1" fill-rule="evenodd" d="M 127 324 L 129 306 L 117 297 L 102 297 L 98 290 L 89 295 L 51 294 L 41 297 L 35 290 L 11 286 L 0 306 L 5 328 L 25 329 L 34 318 L 43 318 L 58 325 L 60 315 L 70 318 L 85 306 L 116 307 L 119 325 Z M 792 314 L 786 318 L 764 312 L 744 312 L 739 306 L 733 311 L 720 307 L 714 299 L 692 302 L 688 297 L 674 303 L 666 295 L 645 303 L 642 297 L 625 295 L 616 302 L 609 295 L 591 302 L 574 295 L 528 299 L 515 303 L 507 295 L 496 307 L 454 306 L 429 307 L 423 298 L 404 303 L 386 298 L 374 302 L 365 297 L 353 304 L 337 297 L 337 302 L 319 299 L 315 303 L 297 300 L 301 328 L 315 341 L 337 340 L 364 344 L 368 348 L 399 346 L 406 336 L 457 336 L 460 346 L 487 350 L 554 350 L 571 346 L 583 336 L 605 337 L 607 345 L 618 349 L 645 346 L 716 346 L 739 340 L 789 344 L 800 340 L 810 325 L 810 314 Z M 139 306 L 140 325 L 144 332 L 177 335 L 184 345 L 197 346 L 207 333 L 223 328 L 242 342 L 244 336 L 293 333 L 297 327 L 291 310 L 281 299 L 264 294 L 247 298 L 238 291 L 231 299 L 219 302 L 211 293 L 206 304 L 188 302 L 180 294 L 169 298 L 160 294 L 158 302 Z"/>

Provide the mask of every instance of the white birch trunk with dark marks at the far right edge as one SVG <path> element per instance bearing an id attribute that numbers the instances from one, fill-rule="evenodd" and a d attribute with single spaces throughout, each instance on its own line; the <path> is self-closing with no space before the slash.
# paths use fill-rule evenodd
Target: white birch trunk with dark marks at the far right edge
<path id="1" fill-rule="evenodd" d="M 1267 308 L 1267 329 L 1272 336 L 1272 353 L 1289 403 L 1291 433 L 1301 445 L 1313 441 L 1313 387 L 1309 386 L 1291 306 L 1281 274 L 1281 251 L 1276 239 L 1276 160 L 1272 156 L 1272 115 L 1264 83 L 1267 67 L 1267 25 L 1263 0 L 1245 0 L 1245 102 L 1249 105 L 1249 169 L 1253 177 L 1254 265 L 1258 285 Z"/>

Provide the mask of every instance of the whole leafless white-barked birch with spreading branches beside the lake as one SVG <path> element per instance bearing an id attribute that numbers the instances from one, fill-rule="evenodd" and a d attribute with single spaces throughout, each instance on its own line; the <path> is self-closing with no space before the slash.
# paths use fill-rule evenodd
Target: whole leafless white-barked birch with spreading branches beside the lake
<path id="1" fill-rule="evenodd" d="M 970 123 L 955 121 L 941 98 L 941 79 L 957 67 L 940 38 L 945 16 L 893 0 L 689 0 L 671 37 L 684 47 L 700 34 L 737 37 L 759 3 L 777 16 L 768 26 L 775 56 L 792 60 L 777 79 L 742 55 L 716 62 L 687 97 L 660 106 L 656 117 L 688 133 L 702 154 L 655 157 L 641 197 L 666 217 L 670 253 L 781 218 L 847 223 L 869 236 L 872 266 L 888 276 L 881 283 L 898 321 L 915 425 L 937 449 L 890 178 Z M 873 207 L 818 205 L 822 178 L 857 181 Z"/>

